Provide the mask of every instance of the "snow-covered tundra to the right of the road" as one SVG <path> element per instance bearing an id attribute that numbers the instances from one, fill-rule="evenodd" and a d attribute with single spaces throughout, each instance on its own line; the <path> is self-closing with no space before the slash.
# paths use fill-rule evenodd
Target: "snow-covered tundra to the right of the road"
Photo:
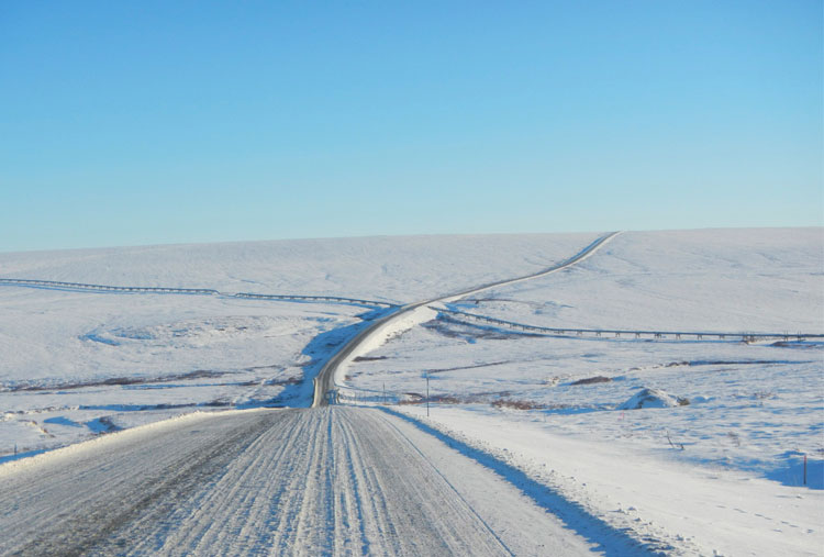
<path id="1" fill-rule="evenodd" d="M 549 327 L 822 333 L 822 246 L 821 230 L 625 233 L 446 307 Z M 823 357 L 819 342 L 538 336 L 433 311 L 360 354 L 342 394 L 420 417 L 427 375 L 427 423 L 616 527 L 700 554 L 817 555 Z M 636 409 L 645 390 L 657 397 Z"/>

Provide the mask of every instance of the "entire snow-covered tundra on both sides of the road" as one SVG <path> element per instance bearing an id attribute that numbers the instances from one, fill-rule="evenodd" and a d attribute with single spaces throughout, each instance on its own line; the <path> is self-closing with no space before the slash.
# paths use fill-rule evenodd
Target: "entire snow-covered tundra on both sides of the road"
<path id="1" fill-rule="evenodd" d="M 0 254 L 0 278 L 408 303 L 535 272 L 595 237 Z M 550 327 L 824 333 L 823 237 L 821 229 L 624 233 L 568 270 L 441 308 Z M 0 308 L 7 460 L 15 443 L 41 450 L 209 405 L 305 404 L 318 363 L 378 314 L 4 286 Z M 343 371 L 345 402 L 403 402 L 390 412 L 553 512 L 583 513 L 638 547 L 821 554 L 821 343 L 528 335 L 437 309 L 407 321 Z"/>

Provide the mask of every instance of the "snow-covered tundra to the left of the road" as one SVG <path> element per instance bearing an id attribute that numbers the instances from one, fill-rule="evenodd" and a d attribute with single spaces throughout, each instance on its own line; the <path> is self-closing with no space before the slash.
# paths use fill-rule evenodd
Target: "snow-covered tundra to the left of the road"
<path id="1" fill-rule="evenodd" d="M 0 278 L 407 302 L 534 272 L 595 234 L 0 254 Z M 205 408 L 307 405 L 381 308 L 0 285 L 0 461 Z"/>

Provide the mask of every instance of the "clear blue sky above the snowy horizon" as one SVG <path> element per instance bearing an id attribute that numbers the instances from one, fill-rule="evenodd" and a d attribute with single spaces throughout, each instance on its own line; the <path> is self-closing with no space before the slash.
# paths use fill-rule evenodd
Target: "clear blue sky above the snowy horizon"
<path id="1" fill-rule="evenodd" d="M 822 1 L 0 3 L 0 252 L 824 223 Z"/>

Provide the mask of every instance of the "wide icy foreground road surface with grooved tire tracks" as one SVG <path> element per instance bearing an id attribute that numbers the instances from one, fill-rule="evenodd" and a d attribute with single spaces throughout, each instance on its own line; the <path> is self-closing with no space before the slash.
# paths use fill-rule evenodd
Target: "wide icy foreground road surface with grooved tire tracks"
<path id="1" fill-rule="evenodd" d="M 0 469 L 3 555 L 581 555 L 510 483 L 378 410 L 192 414 Z"/>

